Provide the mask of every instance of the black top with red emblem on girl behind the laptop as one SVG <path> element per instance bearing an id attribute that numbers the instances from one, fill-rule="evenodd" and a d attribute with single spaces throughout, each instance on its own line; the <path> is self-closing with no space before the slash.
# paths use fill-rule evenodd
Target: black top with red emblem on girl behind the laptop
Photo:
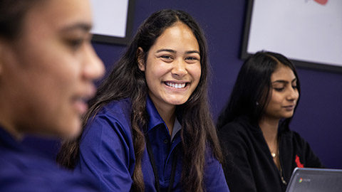
<path id="1" fill-rule="evenodd" d="M 251 124 L 247 117 L 239 117 L 219 129 L 225 156 L 224 174 L 231 192 L 286 191 L 297 166 L 323 167 L 298 133 L 279 127 L 279 138 L 282 171 L 274 164 L 259 125 Z"/>

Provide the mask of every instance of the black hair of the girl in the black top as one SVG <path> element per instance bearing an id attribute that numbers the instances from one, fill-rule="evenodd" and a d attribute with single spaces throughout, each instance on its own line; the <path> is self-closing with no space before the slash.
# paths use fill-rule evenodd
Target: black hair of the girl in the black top
<path id="1" fill-rule="evenodd" d="M 301 85 L 294 64 L 279 53 L 259 51 L 249 56 L 242 65 L 229 102 L 219 114 L 218 129 L 239 116 L 249 117 L 252 123 L 259 122 L 271 95 L 271 75 L 279 65 L 285 65 L 294 72 L 299 96 L 301 95 Z M 298 103 L 299 98 L 297 105 Z M 286 118 L 281 124 L 289 127 L 291 119 L 292 117 Z"/>

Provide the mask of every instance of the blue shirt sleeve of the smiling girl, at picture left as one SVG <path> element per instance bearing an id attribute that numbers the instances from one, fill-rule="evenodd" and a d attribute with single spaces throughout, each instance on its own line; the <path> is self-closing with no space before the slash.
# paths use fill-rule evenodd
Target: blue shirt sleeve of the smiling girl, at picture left
<path id="1" fill-rule="evenodd" d="M 83 132 L 76 171 L 93 176 L 102 191 L 130 191 L 135 157 L 129 125 L 96 115 Z"/>

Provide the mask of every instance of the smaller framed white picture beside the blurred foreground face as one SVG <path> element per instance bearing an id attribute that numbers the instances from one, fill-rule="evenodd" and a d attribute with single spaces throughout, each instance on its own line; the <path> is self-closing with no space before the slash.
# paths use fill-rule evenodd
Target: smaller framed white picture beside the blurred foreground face
<path id="1" fill-rule="evenodd" d="M 134 0 L 91 0 L 93 41 L 126 45 L 133 31 Z"/>

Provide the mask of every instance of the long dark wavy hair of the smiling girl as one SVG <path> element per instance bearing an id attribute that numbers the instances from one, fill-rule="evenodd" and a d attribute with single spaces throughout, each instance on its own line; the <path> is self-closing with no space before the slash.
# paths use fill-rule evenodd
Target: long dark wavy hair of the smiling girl
<path id="1" fill-rule="evenodd" d="M 144 191 L 141 160 L 145 150 L 144 129 L 147 125 L 146 112 L 147 84 L 144 73 L 138 68 L 137 50 L 142 48 L 147 53 L 157 38 L 177 22 L 187 25 L 199 44 L 201 56 L 201 77 L 197 88 L 183 105 L 176 107 L 177 114 L 182 114 L 182 190 L 203 191 L 204 153 L 209 147 L 213 155 L 222 161 L 222 151 L 219 148 L 216 129 L 209 113 L 207 98 L 209 63 L 207 60 L 207 43 L 202 29 L 185 11 L 165 9 L 157 11 L 147 18 L 138 28 L 133 41 L 125 50 L 100 85 L 97 95 L 90 100 L 90 109 L 83 119 L 83 127 L 103 106 L 113 100 L 130 98 L 132 110 L 130 122 L 133 132 L 135 151 L 135 170 L 133 172 L 133 191 Z M 147 54 L 145 54 L 146 60 Z M 58 154 L 58 163 L 68 169 L 73 169 L 78 161 L 80 138 L 63 142 Z"/>

